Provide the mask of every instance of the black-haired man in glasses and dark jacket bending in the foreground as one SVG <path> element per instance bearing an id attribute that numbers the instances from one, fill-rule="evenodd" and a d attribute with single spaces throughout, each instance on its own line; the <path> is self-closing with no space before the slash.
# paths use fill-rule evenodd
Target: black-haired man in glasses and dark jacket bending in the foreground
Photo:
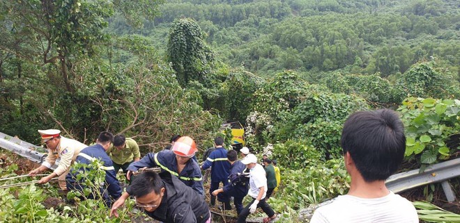
<path id="1" fill-rule="evenodd" d="M 187 187 L 170 172 L 142 172 L 132 180 L 127 192 L 121 195 L 110 210 L 109 216 L 118 217 L 116 209 L 130 195 L 135 205 L 148 216 L 165 223 L 210 223 L 211 216 L 206 201 L 192 188 Z"/>

